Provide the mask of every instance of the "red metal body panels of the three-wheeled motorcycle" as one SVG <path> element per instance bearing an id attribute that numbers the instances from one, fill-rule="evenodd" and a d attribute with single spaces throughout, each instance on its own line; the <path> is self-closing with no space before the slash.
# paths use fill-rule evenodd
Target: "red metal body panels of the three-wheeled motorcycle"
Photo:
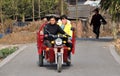
<path id="1" fill-rule="evenodd" d="M 37 48 L 38 48 L 38 54 L 41 55 L 43 50 L 46 50 L 48 47 L 43 44 L 44 41 L 44 34 L 41 34 L 40 32 L 43 30 L 47 23 L 44 23 L 40 26 L 39 31 L 37 32 Z M 73 31 L 73 36 L 72 36 L 72 54 L 75 53 L 75 33 Z M 67 61 L 67 56 L 68 56 L 68 47 L 64 47 L 64 62 Z M 46 50 L 46 59 L 49 59 L 49 62 L 54 62 L 55 60 L 55 55 L 53 48 L 49 48 L 49 50 Z M 50 52 L 48 54 L 48 52 Z"/>

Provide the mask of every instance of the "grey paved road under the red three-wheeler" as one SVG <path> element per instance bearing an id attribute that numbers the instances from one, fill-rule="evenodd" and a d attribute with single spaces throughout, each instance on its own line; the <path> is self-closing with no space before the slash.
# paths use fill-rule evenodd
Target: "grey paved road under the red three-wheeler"
<path id="1" fill-rule="evenodd" d="M 35 44 L 28 45 L 19 55 L 0 68 L 0 76 L 120 76 L 120 64 L 110 53 L 111 39 L 79 39 L 72 66 L 57 73 L 55 65 L 38 67 Z"/>

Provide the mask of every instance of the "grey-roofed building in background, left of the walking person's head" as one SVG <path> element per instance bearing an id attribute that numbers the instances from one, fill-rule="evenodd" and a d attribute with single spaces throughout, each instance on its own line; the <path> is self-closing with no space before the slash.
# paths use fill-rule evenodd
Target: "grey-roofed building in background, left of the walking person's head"
<path id="1" fill-rule="evenodd" d="M 68 16 L 72 18 L 87 18 L 92 10 L 99 6 L 101 0 L 78 0 L 76 8 L 76 0 L 68 0 Z M 77 13 L 76 13 L 77 10 Z"/>

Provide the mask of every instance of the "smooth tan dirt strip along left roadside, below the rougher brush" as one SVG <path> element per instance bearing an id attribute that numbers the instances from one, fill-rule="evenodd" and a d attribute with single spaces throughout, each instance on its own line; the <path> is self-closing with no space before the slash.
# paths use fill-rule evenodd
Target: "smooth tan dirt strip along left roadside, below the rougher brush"
<path id="1" fill-rule="evenodd" d="M 36 33 L 28 31 L 11 33 L 0 39 L 1 44 L 25 44 L 33 43 L 35 41 Z"/>

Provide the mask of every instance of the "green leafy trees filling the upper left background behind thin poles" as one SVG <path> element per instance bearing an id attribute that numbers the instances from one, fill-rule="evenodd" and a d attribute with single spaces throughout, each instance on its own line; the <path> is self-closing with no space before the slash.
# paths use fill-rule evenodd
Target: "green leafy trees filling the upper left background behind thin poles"
<path id="1" fill-rule="evenodd" d="M 33 17 L 33 0 L 0 0 L 1 20 L 3 17 L 10 19 L 22 19 Z M 39 2 L 40 1 L 40 2 Z M 40 9 L 40 10 L 39 10 Z M 66 13 L 66 4 L 64 10 Z M 44 16 L 45 14 L 60 14 L 60 0 L 34 0 L 34 16 Z"/>

